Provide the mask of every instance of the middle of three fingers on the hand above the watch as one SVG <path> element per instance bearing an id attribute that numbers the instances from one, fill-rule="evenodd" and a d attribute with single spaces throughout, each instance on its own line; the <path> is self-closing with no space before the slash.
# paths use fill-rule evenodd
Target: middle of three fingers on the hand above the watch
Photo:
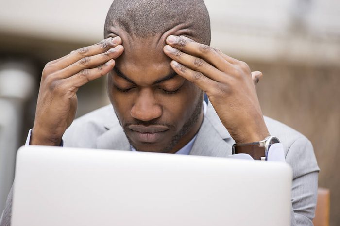
<path id="1" fill-rule="evenodd" d="M 188 55 L 187 53 L 181 52 L 180 50 L 169 45 L 164 47 L 164 52 L 176 62 L 185 65 L 194 71 L 199 71 L 214 81 L 221 82 L 225 77 L 224 73 L 222 73 L 216 67 L 208 64 L 201 58 Z"/>

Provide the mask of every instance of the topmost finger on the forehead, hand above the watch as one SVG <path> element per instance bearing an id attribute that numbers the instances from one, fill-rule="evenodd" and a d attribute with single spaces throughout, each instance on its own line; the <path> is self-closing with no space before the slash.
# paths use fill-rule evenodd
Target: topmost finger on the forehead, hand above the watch
<path id="1" fill-rule="evenodd" d="M 230 65 L 228 61 L 208 45 L 174 35 L 170 35 L 167 38 L 167 44 L 187 54 L 198 56 L 221 71 L 224 71 Z"/>

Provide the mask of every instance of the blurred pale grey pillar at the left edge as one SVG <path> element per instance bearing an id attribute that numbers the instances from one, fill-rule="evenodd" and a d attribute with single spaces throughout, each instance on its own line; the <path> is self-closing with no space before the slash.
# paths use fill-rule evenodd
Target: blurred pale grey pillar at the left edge
<path id="1" fill-rule="evenodd" d="M 0 213 L 14 179 L 23 106 L 34 91 L 34 70 L 26 62 L 0 63 Z"/>

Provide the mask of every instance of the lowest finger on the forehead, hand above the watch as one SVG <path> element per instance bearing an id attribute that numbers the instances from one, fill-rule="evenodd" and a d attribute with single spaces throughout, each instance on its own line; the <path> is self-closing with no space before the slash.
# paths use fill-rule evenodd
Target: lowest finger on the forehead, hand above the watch
<path id="1" fill-rule="evenodd" d="M 188 81 L 191 81 L 206 93 L 208 93 L 208 91 L 217 84 L 216 81 L 209 79 L 201 72 L 191 70 L 190 68 L 178 63 L 177 61 L 171 61 L 170 65 L 179 76 L 182 76 Z"/>

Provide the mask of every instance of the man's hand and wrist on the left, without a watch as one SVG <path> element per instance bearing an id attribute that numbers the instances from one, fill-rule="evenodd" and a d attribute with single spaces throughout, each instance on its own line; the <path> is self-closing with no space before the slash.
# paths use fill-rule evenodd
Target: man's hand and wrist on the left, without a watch
<path id="1" fill-rule="evenodd" d="M 78 89 L 107 74 L 124 51 L 121 38 L 108 38 L 46 64 L 40 82 L 31 145 L 59 146 L 74 120 Z"/>

